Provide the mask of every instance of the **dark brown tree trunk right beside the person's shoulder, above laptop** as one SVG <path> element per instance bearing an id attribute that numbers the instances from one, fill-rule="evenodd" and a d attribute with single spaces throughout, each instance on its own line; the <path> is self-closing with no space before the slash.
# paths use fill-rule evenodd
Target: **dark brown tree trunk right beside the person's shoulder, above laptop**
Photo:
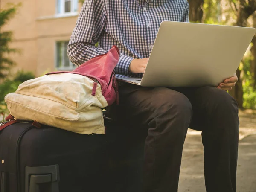
<path id="1" fill-rule="evenodd" d="M 191 22 L 202 23 L 204 0 L 188 0 L 189 20 Z"/>

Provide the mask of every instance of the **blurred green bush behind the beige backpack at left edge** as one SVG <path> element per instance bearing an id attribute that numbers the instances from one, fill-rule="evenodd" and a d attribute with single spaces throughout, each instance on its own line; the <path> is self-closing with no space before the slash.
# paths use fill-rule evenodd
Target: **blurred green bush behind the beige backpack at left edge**
<path id="1" fill-rule="evenodd" d="M 21 83 L 34 78 L 35 76 L 32 72 L 18 71 L 13 80 L 6 79 L 2 84 L 0 84 L 0 117 L 2 115 L 4 119 L 4 117 L 9 113 L 4 97 L 8 93 L 15 92 Z"/>

